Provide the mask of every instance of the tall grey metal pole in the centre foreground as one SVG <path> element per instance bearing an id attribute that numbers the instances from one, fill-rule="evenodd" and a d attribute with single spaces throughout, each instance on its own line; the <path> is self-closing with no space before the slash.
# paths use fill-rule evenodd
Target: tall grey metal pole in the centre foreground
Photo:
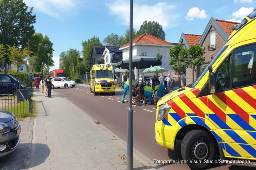
<path id="1" fill-rule="evenodd" d="M 132 18 L 133 17 L 133 0 L 130 0 L 130 46 L 129 46 L 129 108 L 127 115 L 127 170 L 133 169 L 133 110 L 132 110 Z"/>

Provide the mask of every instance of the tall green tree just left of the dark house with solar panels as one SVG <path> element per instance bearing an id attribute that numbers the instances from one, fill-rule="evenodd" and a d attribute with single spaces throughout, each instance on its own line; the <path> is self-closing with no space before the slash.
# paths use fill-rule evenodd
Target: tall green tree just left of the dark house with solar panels
<path id="1" fill-rule="evenodd" d="M 82 41 L 83 47 L 83 60 L 86 70 L 90 70 L 90 60 L 91 60 L 91 48 L 93 46 L 102 46 L 99 37 L 93 36 L 92 38 L 88 39 L 87 41 Z"/>

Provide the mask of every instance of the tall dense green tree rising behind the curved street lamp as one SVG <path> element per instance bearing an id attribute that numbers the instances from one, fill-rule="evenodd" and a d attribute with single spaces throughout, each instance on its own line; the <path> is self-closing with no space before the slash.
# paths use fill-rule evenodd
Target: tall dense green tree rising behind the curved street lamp
<path id="1" fill-rule="evenodd" d="M 33 52 L 33 56 L 35 56 L 38 59 L 35 62 L 34 71 L 41 72 L 44 64 L 48 67 L 48 59 L 49 67 L 54 66 L 54 44 L 51 42 L 50 38 L 47 35 L 44 36 L 42 33 L 34 33 L 31 37 L 31 40 L 28 41 L 28 45 L 29 49 Z M 47 53 L 51 53 L 49 58 Z"/>

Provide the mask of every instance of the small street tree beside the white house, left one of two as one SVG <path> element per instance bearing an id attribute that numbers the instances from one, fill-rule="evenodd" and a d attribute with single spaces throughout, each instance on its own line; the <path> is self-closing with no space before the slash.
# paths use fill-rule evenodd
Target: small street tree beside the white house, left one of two
<path id="1" fill-rule="evenodd" d="M 169 51 L 171 56 L 169 65 L 172 66 L 173 70 L 176 70 L 179 76 L 179 71 L 182 69 L 185 56 L 187 56 L 187 50 L 183 48 L 181 44 L 177 44 Z"/>

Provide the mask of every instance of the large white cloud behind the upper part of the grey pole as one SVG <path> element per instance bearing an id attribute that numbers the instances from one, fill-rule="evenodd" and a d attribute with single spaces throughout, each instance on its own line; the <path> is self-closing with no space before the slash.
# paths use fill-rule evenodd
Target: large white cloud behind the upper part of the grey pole
<path id="1" fill-rule="evenodd" d="M 106 3 L 110 15 L 116 15 L 123 25 L 130 22 L 130 4 L 127 0 L 116 0 Z M 178 14 L 174 13 L 176 5 L 168 2 L 160 2 L 154 5 L 133 4 L 133 27 L 138 30 L 143 21 L 158 21 L 163 29 L 175 27 L 177 25 Z"/>

